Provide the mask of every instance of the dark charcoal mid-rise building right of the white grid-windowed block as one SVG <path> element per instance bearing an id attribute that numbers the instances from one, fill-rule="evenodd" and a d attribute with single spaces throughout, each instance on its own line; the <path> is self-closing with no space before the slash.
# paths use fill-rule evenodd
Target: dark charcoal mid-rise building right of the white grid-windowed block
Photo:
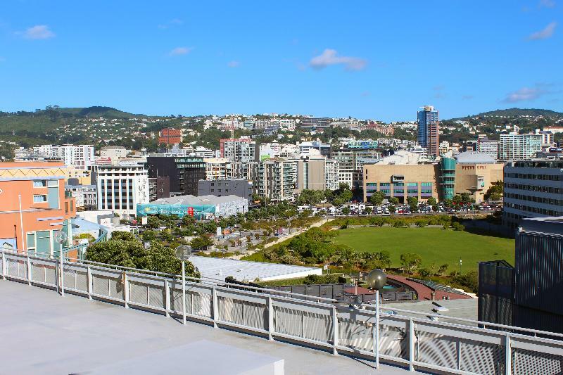
<path id="1" fill-rule="evenodd" d="M 149 178 L 169 177 L 170 195 L 198 193 L 198 181 L 205 179 L 203 158 L 186 156 L 148 156 L 146 167 Z"/>

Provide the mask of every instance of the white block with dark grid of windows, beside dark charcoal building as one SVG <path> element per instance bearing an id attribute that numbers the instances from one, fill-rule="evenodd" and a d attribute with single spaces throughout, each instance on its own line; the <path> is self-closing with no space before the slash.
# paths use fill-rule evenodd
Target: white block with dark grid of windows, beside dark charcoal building
<path id="1" fill-rule="evenodd" d="M 130 219 L 137 215 L 138 204 L 148 203 L 148 173 L 144 165 L 99 165 L 96 175 L 99 210 L 113 210 Z"/>

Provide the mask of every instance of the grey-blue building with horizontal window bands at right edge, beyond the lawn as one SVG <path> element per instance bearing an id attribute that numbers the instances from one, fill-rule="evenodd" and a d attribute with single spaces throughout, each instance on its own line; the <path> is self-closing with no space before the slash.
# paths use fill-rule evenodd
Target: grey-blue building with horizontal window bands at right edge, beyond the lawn
<path id="1" fill-rule="evenodd" d="M 563 216 L 563 160 L 518 160 L 505 165 L 502 224 L 516 229 L 527 217 Z"/>

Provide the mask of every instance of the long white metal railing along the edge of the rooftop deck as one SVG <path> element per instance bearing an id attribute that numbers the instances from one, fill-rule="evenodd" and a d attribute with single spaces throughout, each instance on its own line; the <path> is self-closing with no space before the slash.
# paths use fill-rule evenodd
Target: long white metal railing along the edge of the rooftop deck
<path id="1" fill-rule="evenodd" d="M 269 340 L 453 374 L 561 374 L 563 334 L 1 251 L 1 277 Z M 438 320 L 436 320 L 438 319 Z"/>

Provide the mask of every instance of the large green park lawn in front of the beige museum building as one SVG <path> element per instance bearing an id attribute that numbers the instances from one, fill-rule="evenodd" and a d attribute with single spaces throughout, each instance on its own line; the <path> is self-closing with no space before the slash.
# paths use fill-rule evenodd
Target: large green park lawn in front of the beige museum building
<path id="1" fill-rule="evenodd" d="M 435 263 L 436 267 L 447 263 L 450 271 L 462 272 L 477 269 L 484 260 L 507 260 L 514 265 L 514 240 L 502 237 L 472 234 L 436 227 L 361 227 L 338 229 L 334 241 L 357 251 L 388 250 L 393 267 L 400 266 L 402 253 L 417 253 L 422 266 Z"/>

